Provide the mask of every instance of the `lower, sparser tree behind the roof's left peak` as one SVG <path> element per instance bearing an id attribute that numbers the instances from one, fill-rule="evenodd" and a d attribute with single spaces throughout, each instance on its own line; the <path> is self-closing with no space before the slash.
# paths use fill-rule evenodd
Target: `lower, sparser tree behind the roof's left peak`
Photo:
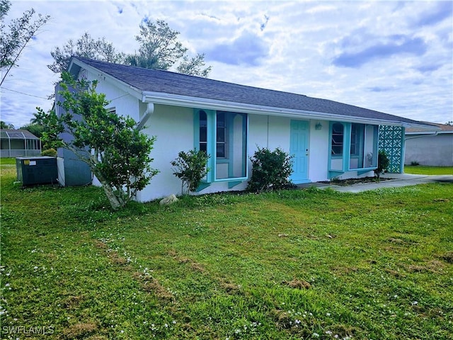
<path id="1" fill-rule="evenodd" d="M 71 56 L 86 57 L 103 62 L 123 63 L 125 54 L 117 52 L 111 42 L 105 38 L 94 40 L 88 32 L 84 33 L 78 40 L 68 40 L 62 47 L 55 47 L 50 55 L 54 58 L 52 64 L 47 65 L 52 72 L 62 73 L 69 65 Z"/>

